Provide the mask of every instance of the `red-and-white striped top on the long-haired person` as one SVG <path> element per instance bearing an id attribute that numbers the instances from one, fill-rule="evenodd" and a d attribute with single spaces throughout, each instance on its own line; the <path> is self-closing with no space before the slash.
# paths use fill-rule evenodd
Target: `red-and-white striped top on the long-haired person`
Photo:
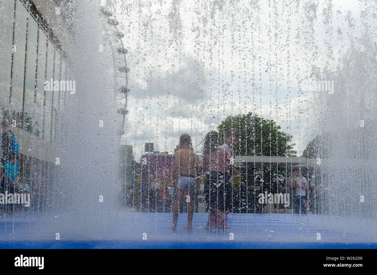
<path id="1" fill-rule="evenodd" d="M 203 169 L 205 172 L 230 173 L 233 164 L 233 157 L 224 146 L 219 146 L 210 154 L 203 154 Z"/>

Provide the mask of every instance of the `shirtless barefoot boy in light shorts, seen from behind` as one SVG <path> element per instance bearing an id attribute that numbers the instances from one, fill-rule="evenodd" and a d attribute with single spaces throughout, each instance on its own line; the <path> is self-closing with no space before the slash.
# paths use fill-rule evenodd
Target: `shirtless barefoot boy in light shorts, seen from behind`
<path id="1" fill-rule="evenodd" d="M 173 167 L 173 180 L 178 177 L 175 191 L 175 202 L 173 209 L 173 225 L 170 229 L 177 227 L 178 207 L 182 205 L 185 190 L 189 189 L 186 199 L 188 205 L 187 226 L 184 229 L 192 230 L 192 218 L 195 204 L 195 184 L 196 175 L 201 169 L 198 156 L 190 149 L 192 147 L 191 137 L 188 134 L 182 134 L 179 137 L 179 148 L 175 152 L 175 163 Z M 179 176 L 178 176 L 179 175 Z"/>

